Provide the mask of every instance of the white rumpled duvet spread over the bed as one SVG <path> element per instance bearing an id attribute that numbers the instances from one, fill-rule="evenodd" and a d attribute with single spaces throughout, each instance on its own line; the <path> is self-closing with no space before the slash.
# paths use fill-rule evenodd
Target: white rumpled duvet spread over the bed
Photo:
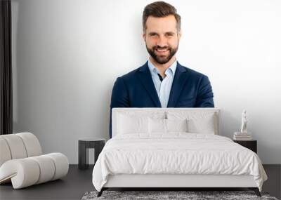
<path id="1" fill-rule="evenodd" d="M 126 134 L 107 141 L 93 168 L 100 189 L 115 174 L 253 175 L 261 191 L 267 175 L 259 156 L 220 135 Z"/>

